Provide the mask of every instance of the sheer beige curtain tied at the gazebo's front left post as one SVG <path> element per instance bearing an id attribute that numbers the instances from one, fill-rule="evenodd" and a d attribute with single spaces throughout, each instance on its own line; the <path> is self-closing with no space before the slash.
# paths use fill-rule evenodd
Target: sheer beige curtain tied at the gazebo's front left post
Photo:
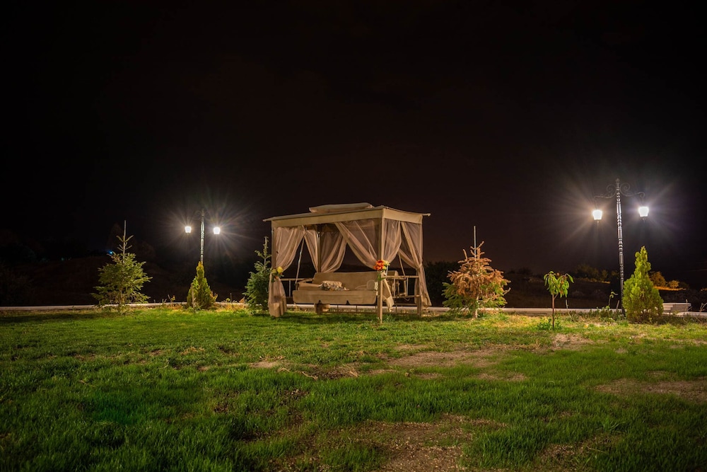
<path id="1" fill-rule="evenodd" d="M 290 267 L 297 254 L 300 241 L 305 236 L 304 226 L 279 227 L 272 233 L 272 267 Z M 268 291 L 268 310 L 270 316 L 281 316 L 287 309 L 285 287 L 278 278 L 270 276 Z"/>

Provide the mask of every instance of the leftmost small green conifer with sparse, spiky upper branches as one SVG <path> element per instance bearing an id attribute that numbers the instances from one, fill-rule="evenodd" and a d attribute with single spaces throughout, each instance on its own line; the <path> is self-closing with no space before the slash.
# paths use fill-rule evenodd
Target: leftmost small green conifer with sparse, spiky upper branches
<path id="1" fill-rule="evenodd" d="M 123 236 L 117 238 L 118 251 L 110 256 L 113 263 L 106 264 L 98 270 L 100 285 L 95 287 L 97 293 L 92 295 L 98 300 L 99 305 L 116 304 L 118 311 L 124 313 L 127 304 L 144 303 L 148 300 L 141 290 L 143 284 L 152 277 L 145 275 L 142 268 L 145 263 L 137 262 L 135 255 L 127 252 L 130 248 L 128 241 L 132 236 L 126 238 L 123 229 Z"/>

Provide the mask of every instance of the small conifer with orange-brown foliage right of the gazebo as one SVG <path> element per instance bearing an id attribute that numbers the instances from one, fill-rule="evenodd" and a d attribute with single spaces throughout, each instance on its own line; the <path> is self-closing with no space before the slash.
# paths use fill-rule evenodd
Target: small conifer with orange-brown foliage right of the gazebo
<path id="1" fill-rule="evenodd" d="M 503 272 L 493 269 L 489 263 L 491 259 L 482 258 L 481 242 L 479 246 L 472 246 L 472 255 L 459 261 L 459 270 L 449 272 L 451 283 L 444 285 L 444 306 L 452 309 L 468 310 L 474 318 L 479 314 L 479 308 L 504 306 L 506 295 L 510 289 L 505 289 L 510 280 L 503 278 Z"/>

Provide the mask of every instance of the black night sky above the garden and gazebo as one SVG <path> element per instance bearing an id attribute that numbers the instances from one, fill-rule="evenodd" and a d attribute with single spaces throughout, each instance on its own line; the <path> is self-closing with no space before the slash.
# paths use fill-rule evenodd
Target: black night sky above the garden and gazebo
<path id="1" fill-rule="evenodd" d="M 165 253 L 205 207 L 243 258 L 265 218 L 370 202 L 431 213 L 428 261 L 462 258 L 475 227 L 501 270 L 615 270 L 615 202 L 598 226 L 590 211 L 620 178 L 651 207 L 622 200 L 627 274 L 645 245 L 669 280 L 704 280 L 696 11 L 243 3 L 6 6 L 0 228 L 104 248 L 127 221 Z"/>

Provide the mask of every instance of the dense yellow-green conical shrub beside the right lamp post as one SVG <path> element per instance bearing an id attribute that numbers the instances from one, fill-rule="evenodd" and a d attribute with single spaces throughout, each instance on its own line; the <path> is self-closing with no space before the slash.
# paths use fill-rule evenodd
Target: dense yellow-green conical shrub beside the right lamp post
<path id="1" fill-rule="evenodd" d="M 662 315 L 663 301 L 660 292 L 650 281 L 650 263 L 645 246 L 636 253 L 636 270 L 624 284 L 624 304 L 626 319 L 636 323 L 650 323 L 653 318 Z"/>

